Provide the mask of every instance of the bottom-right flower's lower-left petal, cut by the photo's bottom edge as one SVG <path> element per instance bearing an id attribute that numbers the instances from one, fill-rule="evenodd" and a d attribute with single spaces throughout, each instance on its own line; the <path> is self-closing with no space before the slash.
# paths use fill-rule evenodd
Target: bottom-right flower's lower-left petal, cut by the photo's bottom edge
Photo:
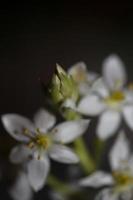
<path id="1" fill-rule="evenodd" d="M 114 193 L 112 188 L 101 190 L 95 200 L 118 200 L 119 193 Z"/>

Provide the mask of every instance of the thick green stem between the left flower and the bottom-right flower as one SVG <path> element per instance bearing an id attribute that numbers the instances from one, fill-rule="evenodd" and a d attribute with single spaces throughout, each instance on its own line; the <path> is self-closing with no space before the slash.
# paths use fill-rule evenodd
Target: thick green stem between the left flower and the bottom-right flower
<path id="1" fill-rule="evenodd" d="M 95 170 L 95 163 L 90 155 L 88 148 L 85 146 L 84 140 L 82 137 L 78 138 L 74 142 L 75 151 L 80 158 L 80 163 L 87 174 L 90 174 Z"/>

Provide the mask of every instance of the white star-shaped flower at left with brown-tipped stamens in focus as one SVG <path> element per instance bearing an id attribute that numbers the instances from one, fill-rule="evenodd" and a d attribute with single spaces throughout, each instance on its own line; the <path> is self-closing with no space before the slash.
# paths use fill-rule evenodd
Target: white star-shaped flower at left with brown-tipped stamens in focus
<path id="1" fill-rule="evenodd" d="M 77 155 L 64 144 L 74 141 L 88 127 L 89 120 L 56 122 L 53 115 L 40 109 L 33 122 L 17 114 L 2 116 L 6 131 L 22 144 L 14 147 L 10 159 L 14 163 L 26 162 L 30 185 L 39 190 L 46 182 L 50 170 L 49 157 L 62 163 L 77 163 Z"/>

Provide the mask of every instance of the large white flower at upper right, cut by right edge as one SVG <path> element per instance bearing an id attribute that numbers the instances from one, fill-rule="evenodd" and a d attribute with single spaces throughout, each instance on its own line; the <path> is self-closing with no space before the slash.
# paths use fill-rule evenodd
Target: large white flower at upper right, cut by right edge
<path id="1" fill-rule="evenodd" d="M 88 116 L 100 115 L 97 134 L 101 139 L 113 135 L 122 117 L 133 130 L 133 96 L 124 88 L 126 73 L 120 58 L 111 55 L 103 62 L 103 78 L 92 86 L 92 91 L 83 97 L 77 110 Z"/>

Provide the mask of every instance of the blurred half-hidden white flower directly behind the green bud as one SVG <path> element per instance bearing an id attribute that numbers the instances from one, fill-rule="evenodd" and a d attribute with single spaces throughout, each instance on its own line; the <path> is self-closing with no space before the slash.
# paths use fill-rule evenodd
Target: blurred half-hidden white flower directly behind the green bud
<path id="1" fill-rule="evenodd" d="M 87 66 L 84 62 L 78 62 L 71 66 L 68 73 L 77 83 L 80 95 L 88 94 L 91 88 L 90 86 L 98 77 L 96 73 L 87 70 Z"/>

